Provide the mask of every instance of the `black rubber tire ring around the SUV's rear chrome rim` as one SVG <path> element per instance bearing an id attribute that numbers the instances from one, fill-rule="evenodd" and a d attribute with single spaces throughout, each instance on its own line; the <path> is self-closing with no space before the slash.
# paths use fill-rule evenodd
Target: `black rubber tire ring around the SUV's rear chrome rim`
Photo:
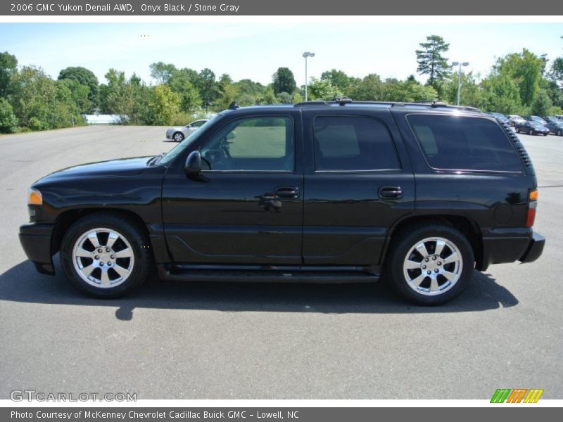
<path id="1" fill-rule="evenodd" d="M 403 274 L 403 262 L 407 252 L 409 252 L 414 245 L 419 243 L 419 241 L 430 237 L 441 237 L 453 242 L 460 251 L 463 260 L 462 274 L 460 279 L 457 280 L 457 283 L 455 283 L 455 286 L 445 293 L 435 296 L 417 293 L 408 285 L 408 282 Z M 394 248 L 388 256 L 385 274 L 387 278 L 391 279 L 391 283 L 396 290 L 398 290 L 398 292 L 408 300 L 420 305 L 442 305 L 445 302 L 453 300 L 457 297 L 457 295 L 462 293 L 464 288 L 467 287 L 467 284 L 472 279 L 474 268 L 474 253 L 472 246 L 469 244 L 469 241 L 467 241 L 467 238 L 453 227 L 434 225 L 422 226 L 419 229 L 408 232 L 407 234 L 403 233 L 400 241 L 394 245 Z"/>

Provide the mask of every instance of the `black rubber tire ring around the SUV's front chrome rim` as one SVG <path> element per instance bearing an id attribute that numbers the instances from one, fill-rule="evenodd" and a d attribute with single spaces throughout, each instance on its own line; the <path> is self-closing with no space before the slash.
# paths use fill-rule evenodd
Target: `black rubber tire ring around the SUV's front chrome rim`
<path id="1" fill-rule="evenodd" d="M 96 219 L 87 216 L 79 220 L 70 226 L 61 243 L 61 267 L 63 267 L 63 271 L 65 271 L 68 280 L 79 290 L 96 298 L 118 298 L 129 293 L 130 290 L 144 281 L 147 265 L 151 262 L 151 257 L 147 256 L 147 252 L 150 249 L 147 248 L 148 245 L 146 245 L 146 241 L 143 236 L 139 234 L 137 228 L 131 224 L 127 224 L 127 222 L 124 224 L 120 219 L 114 219 L 112 217 L 113 216 L 109 215 Z M 133 269 L 127 280 L 111 288 L 96 288 L 82 280 L 75 269 L 72 257 L 72 249 L 76 241 L 83 236 L 86 231 L 99 229 L 101 227 L 113 229 L 122 234 L 122 236 L 125 236 L 129 245 L 131 245 L 134 255 Z"/>

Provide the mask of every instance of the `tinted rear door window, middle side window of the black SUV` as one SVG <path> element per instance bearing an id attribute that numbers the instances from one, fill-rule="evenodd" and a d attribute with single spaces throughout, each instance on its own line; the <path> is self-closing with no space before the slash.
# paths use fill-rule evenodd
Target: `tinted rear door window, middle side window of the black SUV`
<path id="1" fill-rule="evenodd" d="M 315 117 L 316 170 L 398 169 L 393 140 L 379 120 L 369 117 Z"/>

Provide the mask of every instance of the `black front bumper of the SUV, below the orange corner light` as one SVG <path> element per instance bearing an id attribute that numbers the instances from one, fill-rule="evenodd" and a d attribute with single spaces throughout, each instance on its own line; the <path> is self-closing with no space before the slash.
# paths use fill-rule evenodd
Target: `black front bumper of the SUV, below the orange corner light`
<path id="1" fill-rule="evenodd" d="M 42 274 L 55 274 L 51 255 L 52 224 L 24 224 L 20 226 L 20 243 L 25 255 Z"/>

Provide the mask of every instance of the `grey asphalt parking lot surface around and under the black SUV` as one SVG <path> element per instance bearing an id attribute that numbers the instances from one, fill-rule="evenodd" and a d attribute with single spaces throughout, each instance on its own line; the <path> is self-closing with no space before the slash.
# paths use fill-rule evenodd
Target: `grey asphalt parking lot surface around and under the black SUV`
<path id="1" fill-rule="evenodd" d="M 138 399 L 563 398 L 563 137 L 520 135 L 538 174 L 532 264 L 474 273 L 435 308 L 385 283 L 146 283 L 93 300 L 37 274 L 18 241 L 26 191 L 70 165 L 151 155 L 164 127 L 0 136 L 0 398 L 12 390 L 135 392 Z"/>

